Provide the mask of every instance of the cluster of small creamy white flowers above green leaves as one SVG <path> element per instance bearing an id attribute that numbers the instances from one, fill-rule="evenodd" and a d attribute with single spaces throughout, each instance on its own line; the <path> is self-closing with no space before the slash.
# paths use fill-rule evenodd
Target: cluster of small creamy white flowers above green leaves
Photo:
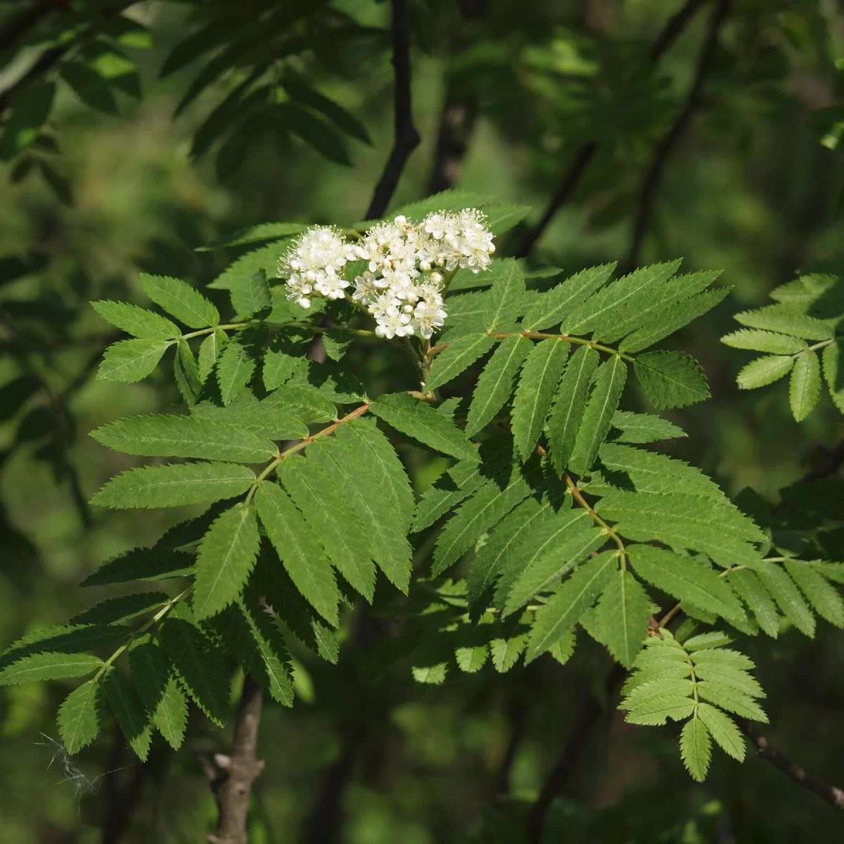
<path id="1" fill-rule="evenodd" d="M 352 282 L 344 277 L 346 264 L 366 261 L 351 298 L 375 317 L 376 334 L 430 338 L 446 320 L 437 270 L 478 273 L 489 266 L 493 252 L 492 233 L 475 208 L 429 214 L 420 224 L 398 216 L 373 226 L 357 243 L 344 241 L 332 228 L 307 230 L 279 260 L 279 278 L 287 279 L 287 298 L 309 308 L 313 295 L 348 298 Z"/>

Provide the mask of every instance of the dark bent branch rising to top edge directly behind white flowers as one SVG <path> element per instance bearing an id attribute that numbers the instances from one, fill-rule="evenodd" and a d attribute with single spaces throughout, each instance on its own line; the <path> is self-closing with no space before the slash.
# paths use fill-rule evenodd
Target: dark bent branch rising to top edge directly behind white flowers
<path id="1" fill-rule="evenodd" d="M 392 67 L 395 71 L 394 96 L 395 139 L 387 165 L 372 194 L 366 219 L 381 217 L 387 210 L 398 179 L 410 154 L 419 146 L 419 133 L 414 126 L 410 107 L 410 17 L 408 0 L 392 0 Z"/>

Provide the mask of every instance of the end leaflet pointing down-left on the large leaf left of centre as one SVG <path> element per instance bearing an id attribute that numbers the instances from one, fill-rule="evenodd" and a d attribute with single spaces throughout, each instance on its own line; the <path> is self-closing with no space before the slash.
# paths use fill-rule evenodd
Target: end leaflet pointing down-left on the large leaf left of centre
<path id="1" fill-rule="evenodd" d="M 255 565 L 259 542 L 255 509 L 249 504 L 239 501 L 214 521 L 197 554 L 193 583 L 197 620 L 219 613 L 240 595 Z"/>

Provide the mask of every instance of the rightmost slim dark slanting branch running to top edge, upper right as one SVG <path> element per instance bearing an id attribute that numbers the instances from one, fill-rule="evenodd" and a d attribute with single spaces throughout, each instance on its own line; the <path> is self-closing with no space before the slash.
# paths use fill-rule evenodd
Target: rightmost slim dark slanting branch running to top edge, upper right
<path id="1" fill-rule="evenodd" d="M 695 79 L 692 82 L 683 110 L 680 111 L 674 125 L 668 130 L 668 133 L 666 133 L 661 143 L 659 143 L 659 146 L 653 155 L 651 166 L 645 174 L 644 181 L 642 182 L 641 193 L 639 195 L 636 220 L 633 224 L 633 235 L 630 240 L 630 250 L 627 252 L 627 258 L 624 263 L 624 268 L 628 272 L 635 268 L 639 261 L 639 252 L 641 252 L 642 241 L 645 239 L 647 227 L 651 222 L 653 204 L 657 197 L 657 191 L 659 189 L 659 184 L 663 179 L 666 165 L 668 165 L 668 159 L 674 151 L 674 147 L 677 145 L 677 142 L 682 137 L 686 127 L 688 127 L 695 111 L 697 111 L 697 109 L 701 106 L 701 98 L 703 95 L 703 87 L 706 83 L 706 75 L 709 73 L 712 57 L 715 54 L 715 49 L 718 45 L 718 35 L 721 31 L 724 20 L 727 19 L 729 8 L 730 0 L 718 0 L 715 11 L 712 13 L 712 19 L 709 24 L 709 30 L 706 33 L 706 41 L 704 41 L 701 56 L 697 62 Z"/>

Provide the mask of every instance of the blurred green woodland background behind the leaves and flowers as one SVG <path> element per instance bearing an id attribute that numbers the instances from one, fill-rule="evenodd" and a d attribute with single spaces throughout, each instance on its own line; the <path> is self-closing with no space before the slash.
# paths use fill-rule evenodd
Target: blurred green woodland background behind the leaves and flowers
<path id="1" fill-rule="evenodd" d="M 534 255 L 566 271 L 623 257 L 643 174 L 695 73 L 707 4 L 647 71 L 642 57 L 679 8 L 675 3 L 490 0 L 475 4 L 487 8 L 468 20 L 449 0 L 411 5 L 414 121 L 422 143 L 392 205 L 425 195 L 441 120 L 459 105 L 468 120 L 468 149 L 449 162 L 448 176 L 459 187 L 534 209 L 505 250 L 515 251 L 538 219 L 577 145 L 595 141 L 595 160 Z M 6 16 L 0 20 L 11 19 L 15 6 L 0 4 Z M 383 30 L 389 23 L 385 3 L 330 6 L 360 27 Z M 164 412 L 177 401 L 163 376 L 138 385 L 92 380 L 113 337 L 88 301 L 140 302 L 139 269 L 207 284 L 237 250 L 197 253 L 194 247 L 246 225 L 354 223 L 392 143 L 392 68 L 382 34 L 335 55 L 311 45 L 294 68 L 365 125 L 373 143 L 349 143 L 353 166 L 298 138 L 257 130 L 236 156 L 236 170 L 219 159 L 215 165 L 213 154 L 194 162 L 194 133 L 241 80 L 237 74 L 220 79 L 173 119 L 203 63 L 159 78 L 189 13 L 186 5 L 167 2 L 130 8 L 129 17 L 153 35 L 149 49 L 131 38 L 122 45 L 138 64 L 143 97 L 118 91 L 116 107 L 106 106 L 116 113 L 108 115 L 60 85 L 48 123 L 60 154 L 35 150 L 33 160 L 46 161 L 46 170 L 36 163 L 15 172 L 13 160 L 4 167 L 3 642 L 36 622 L 62 624 L 103 597 L 104 590 L 79 590 L 78 582 L 101 560 L 148 543 L 181 518 L 166 511 L 90 511 L 84 503 L 131 465 L 87 432 L 122 415 Z M 19 57 L 11 58 L 0 71 L 0 89 L 19 75 Z M 841 257 L 842 66 L 840 4 L 735 3 L 701 107 L 668 160 L 641 253 L 643 263 L 684 256 L 685 271 L 723 268 L 719 284 L 733 286 L 722 305 L 673 341 L 701 360 L 712 398 L 667 414 L 689 434 L 670 446 L 672 454 L 703 468 L 729 494 L 752 486 L 772 499 L 841 438 L 841 417 L 828 396 L 798 425 L 782 384 L 738 392 L 734 376 L 746 354 L 718 338 L 733 329 L 734 311 L 766 304 L 768 292 L 797 268 Z M 251 125 L 244 124 L 247 133 Z M 351 354 L 381 384 L 390 381 L 393 366 L 403 365 Z M 641 398 L 641 407 L 628 409 L 643 408 Z M 415 450 L 406 463 L 418 492 L 444 468 L 440 458 Z M 772 740 L 832 780 L 841 779 L 836 763 L 844 754 L 842 645 L 841 631 L 825 626 L 813 641 L 784 635 L 745 646 L 769 694 Z M 311 813 L 327 805 L 332 772 L 346 763 L 349 786 L 338 799 L 346 812 L 342 840 L 349 844 L 490 841 L 491 829 L 496 841 L 522 841 L 513 818 L 536 797 L 584 696 L 600 693 L 609 664 L 585 642 L 564 668 L 551 663 L 503 680 L 483 671 L 441 687 L 398 688 L 362 684 L 360 668 L 343 657 L 338 669 L 304 653 L 296 657 L 295 708 L 268 706 L 262 720 L 267 767 L 255 788 L 250 838 L 258 844 L 327 840 Z M 0 695 L 2 841 L 105 841 L 115 795 L 138 776 L 137 760 L 118 734 L 74 758 L 82 771 L 62 769 L 51 738 L 64 691 L 61 684 L 40 684 Z M 178 755 L 156 744 L 123 840 L 201 841 L 212 828 L 214 803 L 197 755 L 225 752 L 230 737 L 198 717 L 191 724 Z M 524 730 L 523 740 L 509 797 L 496 803 L 495 777 L 514 728 Z M 738 766 L 718 758 L 706 784 L 695 785 L 674 752 L 675 738 L 671 728 L 632 728 L 611 711 L 587 738 L 544 840 L 844 841 L 830 809 L 761 761 Z"/>

